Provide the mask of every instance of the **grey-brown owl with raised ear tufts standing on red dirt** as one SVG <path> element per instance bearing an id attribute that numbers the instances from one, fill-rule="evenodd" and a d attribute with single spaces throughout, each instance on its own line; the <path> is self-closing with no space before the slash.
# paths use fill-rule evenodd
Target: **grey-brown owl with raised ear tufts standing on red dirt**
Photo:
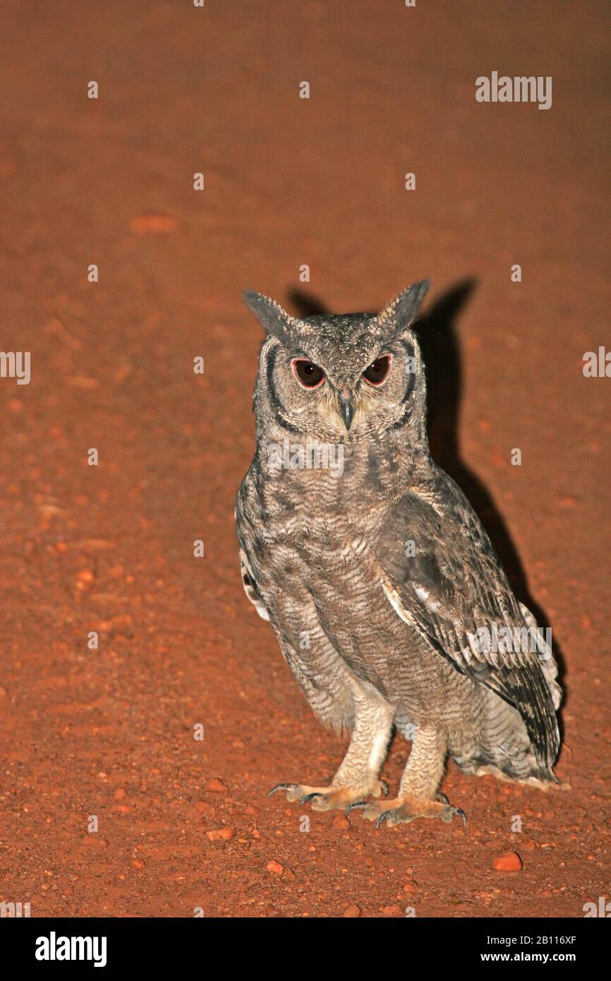
<path id="1" fill-rule="evenodd" d="M 243 584 L 315 715 L 351 734 L 331 783 L 271 793 L 359 808 L 378 827 L 466 820 L 439 793 L 448 757 L 467 774 L 557 783 L 552 650 L 429 451 L 411 330 L 428 288 L 378 316 L 303 319 L 245 294 L 266 337 L 235 508 Z M 412 746 L 388 800 L 393 730 Z"/>

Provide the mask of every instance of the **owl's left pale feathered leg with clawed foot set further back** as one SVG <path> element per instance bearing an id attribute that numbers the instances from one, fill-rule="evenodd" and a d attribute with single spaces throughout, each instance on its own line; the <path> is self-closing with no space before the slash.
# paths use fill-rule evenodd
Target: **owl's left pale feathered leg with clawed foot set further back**
<path id="1" fill-rule="evenodd" d="M 352 695 L 355 711 L 352 739 L 331 786 L 279 784 L 271 794 L 281 790 L 286 792 L 287 800 L 301 803 L 311 800 L 313 810 L 345 808 L 355 800 L 387 794 L 388 788 L 379 774 L 390 739 L 394 706 L 356 682 Z"/>

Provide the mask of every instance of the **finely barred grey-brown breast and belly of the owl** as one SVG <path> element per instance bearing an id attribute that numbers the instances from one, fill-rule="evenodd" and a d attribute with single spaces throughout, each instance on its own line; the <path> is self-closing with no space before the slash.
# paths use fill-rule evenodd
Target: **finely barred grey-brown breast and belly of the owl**
<path id="1" fill-rule="evenodd" d="M 389 502 L 350 505 L 328 481 L 304 493 L 290 481 L 240 491 L 238 537 L 280 637 L 320 669 L 332 648 L 360 678 L 417 718 L 438 702 L 445 665 L 401 620 L 382 589 L 376 558 Z M 320 648 L 320 649 L 319 649 Z"/>

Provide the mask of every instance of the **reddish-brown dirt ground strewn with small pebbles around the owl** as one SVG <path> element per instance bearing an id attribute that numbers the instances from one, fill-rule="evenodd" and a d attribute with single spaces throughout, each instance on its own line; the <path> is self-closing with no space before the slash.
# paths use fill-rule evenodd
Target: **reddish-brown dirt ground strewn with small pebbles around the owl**
<path id="1" fill-rule="evenodd" d="M 582 371 L 609 336 L 605 10 L 3 5 L 1 345 L 31 352 L 31 383 L 0 379 L 0 900 L 32 916 L 579 917 L 609 897 L 611 382 Z M 551 110 L 477 103 L 492 70 L 553 77 Z M 335 312 L 432 278 L 433 446 L 524 598 L 510 530 L 552 625 L 571 791 L 450 765 L 466 831 L 312 812 L 304 833 L 299 807 L 266 799 L 330 778 L 343 748 L 246 601 L 233 530 L 261 340 L 241 290 L 297 310 L 304 263 L 305 293 Z M 395 740 L 391 784 L 407 751 Z M 508 850 L 521 872 L 492 868 Z"/>

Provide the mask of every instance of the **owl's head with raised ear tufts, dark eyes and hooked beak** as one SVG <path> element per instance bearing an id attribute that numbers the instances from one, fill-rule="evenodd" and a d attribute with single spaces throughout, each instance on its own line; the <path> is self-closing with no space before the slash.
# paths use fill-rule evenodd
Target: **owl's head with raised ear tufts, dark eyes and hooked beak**
<path id="1" fill-rule="evenodd" d="M 372 437 L 408 423 L 421 437 L 425 375 L 410 325 L 428 289 L 428 280 L 413 284 L 377 316 L 303 320 L 268 296 L 246 292 L 267 332 L 255 387 L 257 416 L 329 441 Z"/>

